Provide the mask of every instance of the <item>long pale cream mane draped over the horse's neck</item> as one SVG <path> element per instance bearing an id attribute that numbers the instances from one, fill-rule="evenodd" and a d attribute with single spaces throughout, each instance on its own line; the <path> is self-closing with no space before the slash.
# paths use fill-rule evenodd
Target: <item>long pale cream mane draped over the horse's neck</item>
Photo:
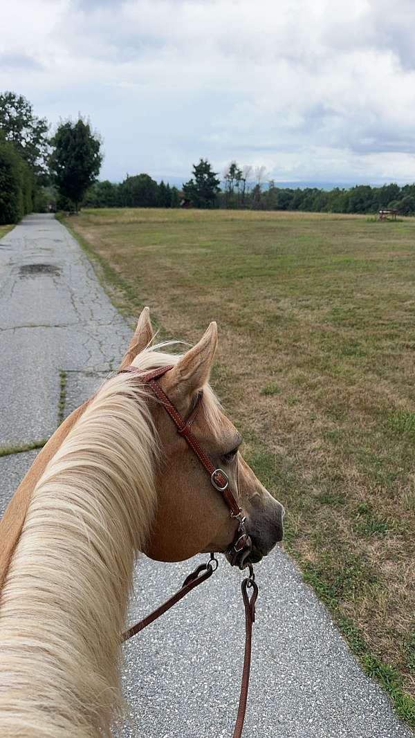
<path id="1" fill-rule="evenodd" d="M 0 608 L 0 734 L 110 734 L 134 554 L 153 518 L 154 435 L 114 378 L 33 493 Z"/>

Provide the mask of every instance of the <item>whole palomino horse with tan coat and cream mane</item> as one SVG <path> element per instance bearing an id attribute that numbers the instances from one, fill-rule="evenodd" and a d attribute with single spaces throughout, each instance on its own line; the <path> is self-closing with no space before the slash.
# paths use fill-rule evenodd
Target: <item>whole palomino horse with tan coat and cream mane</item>
<path id="1" fill-rule="evenodd" d="M 207 384 L 216 323 L 183 356 L 152 338 L 145 308 L 121 369 L 173 365 L 157 382 L 184 418 L 199 402 L 193 434 L 229 477 L 258 560 L 281 540 L 283 508 Z M 137 374 L 106 381 L 49 440 L 0 523 L 0 735 L 110 736 L 137 552 L 166 562 L 224 552 L 237 527 Z"/>

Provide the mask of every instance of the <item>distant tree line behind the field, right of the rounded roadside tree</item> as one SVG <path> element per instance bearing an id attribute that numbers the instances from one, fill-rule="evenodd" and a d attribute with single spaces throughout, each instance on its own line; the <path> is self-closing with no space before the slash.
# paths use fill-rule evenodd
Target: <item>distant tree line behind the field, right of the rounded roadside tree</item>
<path id="1" fill-rule="evenodd" d="M 231 162 L 222 174 L 207 159 L 193 165 L 193 176 L 182 190 L 151 179 L 148 174 L 127 177 L 121 184 L 97 182 L 86 193 L 86 207 L 179 207 L 233 210 L 301 210 L 309 213 L 377 213 L 394 208 L 400 215 L 415 214 L 415 184 L 371 187 L 278 187 L 266 179 L 265 167 L 239 168 Z"/>

